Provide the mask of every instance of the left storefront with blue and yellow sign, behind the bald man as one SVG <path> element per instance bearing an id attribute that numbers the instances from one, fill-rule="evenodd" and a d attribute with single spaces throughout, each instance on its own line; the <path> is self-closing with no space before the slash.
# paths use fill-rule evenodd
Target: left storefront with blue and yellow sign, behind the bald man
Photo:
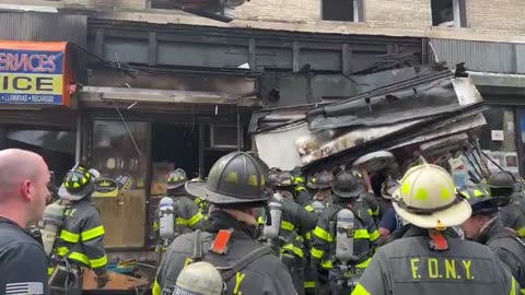
<path id="1" fill-rule="evenodd" d="M 0 149 L 40 154 L 57 179 L 75 160 L 69 52 L 67 43 L 0 42 Z"/>

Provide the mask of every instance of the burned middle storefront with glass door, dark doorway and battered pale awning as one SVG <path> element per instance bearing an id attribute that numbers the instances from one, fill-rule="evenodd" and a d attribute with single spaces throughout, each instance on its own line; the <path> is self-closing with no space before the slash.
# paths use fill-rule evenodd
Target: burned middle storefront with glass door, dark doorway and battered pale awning
<path id="1" fill-rule="evenodd" d="M 82 105 L 82 162 L 101 172 L 94 203 L 112 251 L 148 250 L 167 174 L 208 175 L 222 155 L 249 146 L 245 130 L 257 103 L 217 93 L 86 86 Z M 256 101 L 253 98 L 249 102 Z"/>

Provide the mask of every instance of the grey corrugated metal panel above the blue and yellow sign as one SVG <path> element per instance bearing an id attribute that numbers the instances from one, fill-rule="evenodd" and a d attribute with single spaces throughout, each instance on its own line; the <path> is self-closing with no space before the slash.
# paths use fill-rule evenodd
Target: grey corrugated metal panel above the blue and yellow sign
<path id="1" fill-rule="evenodd" d="M 88 16 L 60 13 L 1 12 L 0 39 L 88 44 Z"/>

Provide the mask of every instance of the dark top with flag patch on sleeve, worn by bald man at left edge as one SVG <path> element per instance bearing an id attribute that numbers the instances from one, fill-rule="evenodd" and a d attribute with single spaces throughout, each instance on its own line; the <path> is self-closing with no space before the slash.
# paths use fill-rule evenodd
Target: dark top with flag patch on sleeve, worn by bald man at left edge
<path id="1" fill-rule="evenodd" d="M 49 294 L 44 248 L 4 217 L 0 217 L 0 294 Z"/>

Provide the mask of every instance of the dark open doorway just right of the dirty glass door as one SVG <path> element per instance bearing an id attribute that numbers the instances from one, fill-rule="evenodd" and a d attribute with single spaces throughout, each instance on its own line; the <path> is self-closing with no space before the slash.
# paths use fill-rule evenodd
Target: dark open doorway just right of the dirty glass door
<path id="1" fill-rule="evenodd" d="M 199 126 L 154 123 L 151 140 L 153 166 L 182 168 L 188 179 L 199 176 Z"/>

